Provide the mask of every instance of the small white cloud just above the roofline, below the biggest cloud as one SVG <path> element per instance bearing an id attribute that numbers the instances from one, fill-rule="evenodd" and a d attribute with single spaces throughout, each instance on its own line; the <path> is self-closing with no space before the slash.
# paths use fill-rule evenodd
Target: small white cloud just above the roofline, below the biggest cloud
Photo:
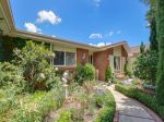
<path id="1" fill-rule="evenodd" d="M 32 33 L 40 33 L 42 32 L 40 28 L 37 28 L 35 24 L 30 23 L 30 22 L 24 23 L 24 26 L 25 26 L 26 30 L 32 32 Z"/>

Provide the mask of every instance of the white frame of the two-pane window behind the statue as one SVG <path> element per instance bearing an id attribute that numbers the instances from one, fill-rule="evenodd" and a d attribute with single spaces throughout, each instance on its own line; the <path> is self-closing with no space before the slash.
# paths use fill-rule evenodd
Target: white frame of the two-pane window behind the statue
<path id="1" fill-rule="evenodd" d="M 68 66 L 68 68 L 69 68 L 69 66 L 70 66 L 70 68 L 71 68 L 71 66 L 77 66 L 77 51 L 55 50 L 55 52 L 56 52 L 56 51 L 62 51 L 62 52 L 65 52 L 65 59 L 63 59 L 63 65 L 55 65 L 55 64 L 54 64 L 54 60 L 52 60 L 54 66 Z M 66 64 L 66 52 L 72 52 L 72 53 L 75 53 L 75 64 L 73 64 L 73 65 L 67 65 L 67 64 Z"/>

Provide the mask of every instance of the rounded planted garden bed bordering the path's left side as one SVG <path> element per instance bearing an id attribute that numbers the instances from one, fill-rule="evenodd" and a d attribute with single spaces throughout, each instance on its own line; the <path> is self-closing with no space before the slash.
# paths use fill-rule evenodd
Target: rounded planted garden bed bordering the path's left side
<path id="1" fill-rule="evenodd" d="M 92 84 L 75 86 L 63 106 L 47 115 L 47 122 L 113 122 L 115 99 L 108 89 Z"/>

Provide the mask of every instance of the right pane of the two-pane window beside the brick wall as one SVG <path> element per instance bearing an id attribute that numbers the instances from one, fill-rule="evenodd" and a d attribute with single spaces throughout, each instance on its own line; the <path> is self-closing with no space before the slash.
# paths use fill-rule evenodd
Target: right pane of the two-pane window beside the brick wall
<path id="1" fill-rule="evenodd" d="M 75 65 L 75 52 L 66 52 L 66 65 Z"/>

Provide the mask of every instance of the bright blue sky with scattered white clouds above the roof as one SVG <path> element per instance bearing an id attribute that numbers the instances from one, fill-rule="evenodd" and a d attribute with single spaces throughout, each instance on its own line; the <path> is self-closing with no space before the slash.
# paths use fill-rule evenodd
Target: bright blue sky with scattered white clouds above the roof
<path id="1" fill-rule="evenodd" d="M 149 42 L 140 0 L 11 0 L 20 29 L 93 46 Z"/>

